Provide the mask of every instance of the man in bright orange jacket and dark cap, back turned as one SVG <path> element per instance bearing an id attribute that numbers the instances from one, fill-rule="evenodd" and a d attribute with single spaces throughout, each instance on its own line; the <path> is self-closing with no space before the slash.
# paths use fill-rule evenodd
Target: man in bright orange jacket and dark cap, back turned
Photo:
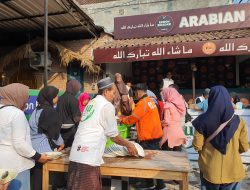
<path id="1" fill-rule="evenodd" d="M 139 83 L 135 85 L 135 98 L 138 103 L 132 114 L 121 118 L 124 124 L 136 124 L 136 131 L 139 144 L 144 149 L 160 150 L 159 141 L 163 135 L 161 121 L 157 106 L 152 98 L 147 96 L 147 85 Z M 156 187 L 153 179 L 145 180 L 145 183 L 140 184 L 139 189 L 166 189 L 163 180 L 157 179 Z"/>

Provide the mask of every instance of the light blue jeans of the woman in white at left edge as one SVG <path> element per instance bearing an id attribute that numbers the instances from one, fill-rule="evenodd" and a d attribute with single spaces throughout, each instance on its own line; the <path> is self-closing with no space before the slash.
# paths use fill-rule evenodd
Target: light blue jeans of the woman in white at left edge
<path id="1" fill-rule="evenodd" d="M 10 182 L 8 190 L 30 190 L 30 170 L 19 173 Z"/>

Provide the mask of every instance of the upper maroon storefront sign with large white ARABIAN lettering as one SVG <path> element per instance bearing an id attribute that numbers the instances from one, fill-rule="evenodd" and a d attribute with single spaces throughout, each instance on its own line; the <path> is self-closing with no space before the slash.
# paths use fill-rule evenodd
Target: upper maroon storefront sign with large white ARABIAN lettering
<path id="1" fill-rule="evenodd" d="M 250 27 L 250 4 L 118 17 L 115 39 L 153 37 Z"/>

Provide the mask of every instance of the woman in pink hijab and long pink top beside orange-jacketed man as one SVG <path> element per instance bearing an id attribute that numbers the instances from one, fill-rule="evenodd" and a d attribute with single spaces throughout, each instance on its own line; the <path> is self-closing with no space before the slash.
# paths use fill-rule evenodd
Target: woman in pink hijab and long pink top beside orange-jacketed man
<path id="1" fill-rule="evenodd" d="M 175 88 L 167 87 L 162 90 L 164 101 L 163 108 L 163 137 L 160 146 L 163 150 L 181 151 L 186 143 L 186 136 L 183 132 L 183 118 L 186 114 L 186 107 L 183 97 Z"/>

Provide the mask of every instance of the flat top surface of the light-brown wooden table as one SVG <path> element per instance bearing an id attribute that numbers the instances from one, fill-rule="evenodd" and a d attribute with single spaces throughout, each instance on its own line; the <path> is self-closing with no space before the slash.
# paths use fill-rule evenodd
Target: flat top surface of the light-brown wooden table
<path id="1" fill-rule="evenodd" d="M 149 169 L 158 171 L 190 172 L 191 166 L 185 152 L 146 150 L 145 158 L 116 157 L 104 158 L 101 167 Z M 68 164 L 67 155 L 48 162 L 49 164 Z"/>

